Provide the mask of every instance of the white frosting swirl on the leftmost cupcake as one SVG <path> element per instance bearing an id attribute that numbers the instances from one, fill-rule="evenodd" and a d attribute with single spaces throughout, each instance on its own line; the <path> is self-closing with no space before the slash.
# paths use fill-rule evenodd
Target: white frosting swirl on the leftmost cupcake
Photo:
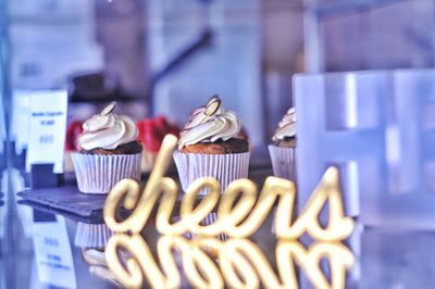
<path id="1" fill-rule="evenodd" d="M 78 146 L 84 150 L 102 148 L 116 149 L 119 146 L 136 140 L 138 129 L 132 118 L 109 113 L 96 114 L 83 124 Z"/>

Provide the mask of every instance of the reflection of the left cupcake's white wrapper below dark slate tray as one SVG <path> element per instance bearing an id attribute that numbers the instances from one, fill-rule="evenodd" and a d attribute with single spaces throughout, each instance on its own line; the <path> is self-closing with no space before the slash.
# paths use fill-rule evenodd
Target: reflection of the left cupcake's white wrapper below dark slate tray
<path id="1" fill-rule="evenodd" d="M 103 248 L 113 233 L 104 224 L 78 222 L 74 244 L 80 248 Z"/>

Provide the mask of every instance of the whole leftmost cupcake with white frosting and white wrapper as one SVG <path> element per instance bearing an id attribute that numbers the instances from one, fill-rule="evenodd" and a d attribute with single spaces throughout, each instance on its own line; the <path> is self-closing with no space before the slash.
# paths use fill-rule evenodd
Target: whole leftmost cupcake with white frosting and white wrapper
<path id="1" fill-rule="evenodd" d="M 108 193 L 123 178 L 140 179 L 142 147 L 132 118 L 113 113 L 112 102 L 83 124 L 73 164 L 79 191 Z"/>

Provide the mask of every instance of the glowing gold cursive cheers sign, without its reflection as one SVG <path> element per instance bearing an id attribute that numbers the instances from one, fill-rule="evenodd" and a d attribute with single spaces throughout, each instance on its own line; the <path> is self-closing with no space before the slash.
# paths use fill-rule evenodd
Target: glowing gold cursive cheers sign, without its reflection
<path id="1" fill-rule="evenodd" d="M 233 238 L 251 236 L 270 214 L 278 199 L 275 215 L 275 235 L 279 239 L 297 239 L 308 233 L 321 241 L 339 241 L 353 230 L 353 219 L 344 215 L 339 175 L 336 167 L 330 167 L 314 189 L 299 216 L 293 221 L 295 210 L 295 185 L 283 178 L 268 177 L 260 193 L 249 179 L 231 183 L 220 194 L 220 183 L 211 177 L 196 180 L 187 189 L 181 204 L 181 218 L 171 223 L 178 188 L 176 183 L 164 177 L 177 138 L 166 136 L 158 154 L 156 166 L 140 194 L 139 185 L 132 179 L 121 180 L 109 193 L 104 205 L 104 221 L 116 233 L 140 233 L 161 197 L 156 224 L 162 235 L 179 236 L 192 233 L 212 237 L 226 234 Z M 207 188 L 209 193 L 197 204 L 198 192 Z M 237 196 L 240 198 L 236 201 Z M 328 202 L 330 219 L 326 227 L 319 224 L 319 214 Z M 116 209 L 124 205 L 133 213 L 124 218 L 116 217 Z M 217 205 L 217 221 L 203 226 L 201 221 Z"/>

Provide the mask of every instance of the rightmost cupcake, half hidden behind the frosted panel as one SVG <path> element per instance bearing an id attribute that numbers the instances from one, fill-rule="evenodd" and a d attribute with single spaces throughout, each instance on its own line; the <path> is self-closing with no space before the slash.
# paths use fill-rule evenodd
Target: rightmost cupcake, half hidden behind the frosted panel
<path id="1" fill-rule="evenodd" d="M 296 181 L 296 110 L 284 115 L 269 146 L 273 174 Z"/>

